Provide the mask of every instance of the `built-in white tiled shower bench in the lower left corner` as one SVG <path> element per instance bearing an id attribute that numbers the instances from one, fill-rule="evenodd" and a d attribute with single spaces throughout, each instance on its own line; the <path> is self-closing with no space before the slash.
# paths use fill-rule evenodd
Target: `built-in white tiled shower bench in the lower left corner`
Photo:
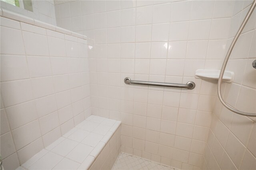
<path id="1" fill-rule="evenodd" d="M 90 115 L 16 170 L 109 170 L 120 153 L 120 124 Z"/>

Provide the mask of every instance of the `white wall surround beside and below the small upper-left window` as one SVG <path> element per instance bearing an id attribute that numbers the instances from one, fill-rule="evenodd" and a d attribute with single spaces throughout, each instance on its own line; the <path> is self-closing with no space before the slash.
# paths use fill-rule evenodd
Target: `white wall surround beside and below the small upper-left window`
<path id="1" fill-rule="evenodd" d="M 2 0 L 0 1 L 0 6 L 2 9 L 21 14 L 22 16 L 56 25 L 54 0 L 32 0 L 33 12 L 8 4 Z"/>

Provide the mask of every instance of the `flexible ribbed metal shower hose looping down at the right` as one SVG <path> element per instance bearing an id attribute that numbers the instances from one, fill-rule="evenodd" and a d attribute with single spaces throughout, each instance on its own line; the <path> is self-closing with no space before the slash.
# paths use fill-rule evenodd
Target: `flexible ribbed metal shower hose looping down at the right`
<path id="1" fill-rule="evenodd" d="M 222 94 L 221 94 L 221 83 L 222 83 L 222 78 L 223 78 L 223 74 L 224 74 L 224 71 L 225 71 L 225 68 L 226 68 L 226 65 L 228 63 L 228 58 L 230 57 L 230 54 L 234 48 L 234 45 L 236 44 L 236 41 L 238 39 L 238 37 L 240 36 L 240 34 L 242 33 L 243 29 L 244 29 L 244 26 L 246 25 L 247 21 L 249 20 L 250 16 L 252 15 L 252 12 L 254 10 L 256 6 L 256 0 L 254 0 L 252 2 L 252 5 L 248 11 L 248 13 L 246 14 L 245 18 L 244 18 L 244 21 L 242 22 L 240 28 L 238 29 L 229 49 L 228 49 L 228 52 L 226 54 L 226 57 L 224 59 L 224 62 L 222 64 L 222 68 L 220 70 L 220 77 L 219 77 L 219 80 L 218 80 L 218 97 L 220 99 L 220 102 L 227 108 L 229 109 L 230 111 L 233 111 L 234 113 L 237 113 L 239 115 L 244 115 L 244 116 L 250 116 L 250 117 L 256 117 L 256 113 L 247 113 L 247 112 L 243 112 L 243 111 L 239 111 L 237 109 L 235 109 L 234 107 L 230 106 L 229 104 L 227 104 L 223 98 L 222 98 Z"/>

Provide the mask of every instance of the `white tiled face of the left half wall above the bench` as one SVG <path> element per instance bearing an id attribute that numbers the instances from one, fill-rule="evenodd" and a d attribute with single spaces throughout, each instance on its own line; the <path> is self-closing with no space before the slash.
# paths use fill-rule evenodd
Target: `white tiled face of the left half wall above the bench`
<path id="1" fill-rule="evenodd" d="M 91 115 L 87 41 L 66 32 L 1 17 L 0 138 L 7 170 Z"/>

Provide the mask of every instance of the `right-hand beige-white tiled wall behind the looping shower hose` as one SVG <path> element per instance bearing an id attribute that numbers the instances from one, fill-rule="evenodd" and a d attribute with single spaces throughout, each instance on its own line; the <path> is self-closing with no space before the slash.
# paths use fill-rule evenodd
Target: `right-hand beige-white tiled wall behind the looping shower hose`
<path id="1" fill-rule="evenodd" d="M 242 10 L 231 18 L 231 42 L 250 8 L 244 1 Z M 248 6 L 249 5 L 249 6 Z M 228 43 L 229 45 L 230 43 Z M 240 111 L 256 113 L 256 11 L 252 13 L 228 61 L 227 70 L 234 71 L 234 81 L 224 84 L 224 100 Z M 238 115 L 216 100 L 202 169 L 256 169 L 256 118 Z"/>

